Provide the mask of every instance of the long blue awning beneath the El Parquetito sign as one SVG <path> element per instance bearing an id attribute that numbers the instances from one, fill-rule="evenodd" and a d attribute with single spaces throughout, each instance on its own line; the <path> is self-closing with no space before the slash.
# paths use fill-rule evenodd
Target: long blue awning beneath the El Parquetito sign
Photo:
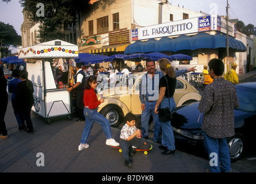
<path id="1" fill-rule="evenodd" d="M 228 37 L 229 48 L 234 52 L 246 52 L 247 48 L 242 41 L 236 40 L 233 37 Z M 227 48 L 227 36 L 225 34 L 217 33 L 211 35 L 208 33 L 198 33 L 190 37 L 187 35 L 181 35 L 176 39 L 170 39 L 168 37 L 162 37 L 160 40 L 150 39 L 146 42 L 136 41 L 133 44 L 128 45 L 125 49 L 125 54 L 132 53 L 148 53 L 148 52 L 162 52 L 172 51 L 177 52 L 181 50 L 195 50 L 201 48 Z"/>

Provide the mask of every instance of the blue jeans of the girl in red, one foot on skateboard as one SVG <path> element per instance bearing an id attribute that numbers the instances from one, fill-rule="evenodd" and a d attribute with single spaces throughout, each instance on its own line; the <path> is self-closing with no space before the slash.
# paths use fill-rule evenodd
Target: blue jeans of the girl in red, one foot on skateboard
<path id="1" fill-rule="evenodd" d="M 98 108 L 97 108 L 98 109 Z M 112 139 L 112 132 L 110 129 L 110 123 L 107 118 L 98 113 L 97 109 L 88 109 L 84 108 L 84 116 L 86 117 L 86 125 L 84 126 L 84 130 L 81 136 L 81 144 L 86 144 L 87 139 L 90 135 L 92 126 L 94 125 L 94 121 L 99 125 L 102 125 L 103 132 L 107 139 Z"/>

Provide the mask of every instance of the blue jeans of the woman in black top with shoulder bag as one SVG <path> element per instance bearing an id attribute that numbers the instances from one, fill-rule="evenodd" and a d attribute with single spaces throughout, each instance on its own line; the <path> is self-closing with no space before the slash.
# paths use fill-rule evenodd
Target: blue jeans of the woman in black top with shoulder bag
<path id="1" fill-rule="evenodd" d="M 169 100 L 170 99 L 170 105 Z M 169 107 L 171 113 L 175 110 L 176 104 L 174 98 L 164 98 L 161 102 L 161 108 Z M 158 115 L 158 114 L 157 114 Z M 170 121 L 161 122 L 162 126 L 162 145 L 167 147 L 167 150 L 175 150 L 175 138 L 172 131 L 172 126 L 170 125 Z"/>

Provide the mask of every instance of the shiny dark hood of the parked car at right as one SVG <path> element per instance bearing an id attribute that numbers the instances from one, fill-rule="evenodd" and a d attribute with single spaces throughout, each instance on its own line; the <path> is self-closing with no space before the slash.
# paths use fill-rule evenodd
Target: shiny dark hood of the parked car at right
<path id="1" fill-rule="evenodd" d="M 200 114 L 198 104 L 199 102 L 194 102 L 176 108 L 175 112 L 172 114 L 172 126 L 194 135 L 200 135 L 202 133 L 201 125 L 203 114 Z M 244 121 L 251 116 L 255 116 L 255 113 L 235 109 L 234 115 L 235 128 L 240 128 L 243 127 Z"/>

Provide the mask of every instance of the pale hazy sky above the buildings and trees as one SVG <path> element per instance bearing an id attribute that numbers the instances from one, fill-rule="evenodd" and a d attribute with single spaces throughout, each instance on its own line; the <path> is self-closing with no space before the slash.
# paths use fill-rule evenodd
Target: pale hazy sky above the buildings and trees
<path id="1" fill-rule="evenodd" d="M 135 0 L 136 1 L 136 0 Z M 146 1 L 146 0 L 145 0 Z M 207 14 L 226 15 L 227 0 L 169 0 L 174 6 L 180 6 L 194 11 L 203 11 Z M 238 18 L 245 25 L 256 26 L 256 1 L 255 0 L 228 0 L 230 18 Z M 9 3 L 0 0 L 0 21 L 13 25 L 14 29 L 21 35 L 21 24 L 23 23 L 23 7 L 18 0 Z M 13 49 L 16 52 L 17 49 Z"/>

